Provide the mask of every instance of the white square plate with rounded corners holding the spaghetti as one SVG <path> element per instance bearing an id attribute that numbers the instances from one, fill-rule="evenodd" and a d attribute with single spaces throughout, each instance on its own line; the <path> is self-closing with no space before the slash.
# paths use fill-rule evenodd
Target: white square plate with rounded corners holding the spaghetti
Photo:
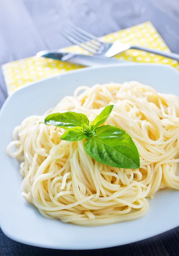
<path id="1" fill-rule="evenodd" d="M 134 221 L 79 227 L 48 220 L 21 195 L 17 160 L 6 154 L 12 131 L 27 116 L 42 114 L 81 85 L 136 80 L 161 93 L 179 96 L 179 73 L 153 64 L 117 64 L 85 68 L 41 80 L 14 92 L 0 111 L 0 226 L 11 239 L 58 249 L 96 249 L 128 244 L 179 225 L 179 191 L 162 190 L 149 200 L 148 213 Z"/>

